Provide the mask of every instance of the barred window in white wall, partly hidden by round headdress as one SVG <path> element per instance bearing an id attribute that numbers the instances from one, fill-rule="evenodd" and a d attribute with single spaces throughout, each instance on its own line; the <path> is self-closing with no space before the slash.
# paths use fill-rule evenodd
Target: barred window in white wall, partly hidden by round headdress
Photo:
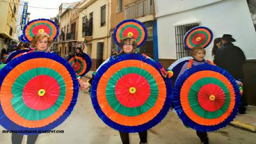
<path id="1" fill-rule="evenodd" d="M 184 47 L 184 36 L 190 29 L 195 28 L 196 26 L 199 26 L 199 24 L 193 23 L 193 24 L 186 24 L 182 26 L 175 26 L 177 59 L 183 58 L 186 56 L 191 56 L 190 52 Z"/>

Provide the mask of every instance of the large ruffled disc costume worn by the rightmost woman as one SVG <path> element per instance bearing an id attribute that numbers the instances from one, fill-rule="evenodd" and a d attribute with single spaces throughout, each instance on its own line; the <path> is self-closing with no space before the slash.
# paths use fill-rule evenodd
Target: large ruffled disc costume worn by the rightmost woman
<path id="1" fill-rule="evenodd" d="M 215 131 L 237 115 L 239 88 L 226 70 L 209 64 L 197 65 L 177 79 L 173 104 L 185 125 L 197 131 Z"/>

